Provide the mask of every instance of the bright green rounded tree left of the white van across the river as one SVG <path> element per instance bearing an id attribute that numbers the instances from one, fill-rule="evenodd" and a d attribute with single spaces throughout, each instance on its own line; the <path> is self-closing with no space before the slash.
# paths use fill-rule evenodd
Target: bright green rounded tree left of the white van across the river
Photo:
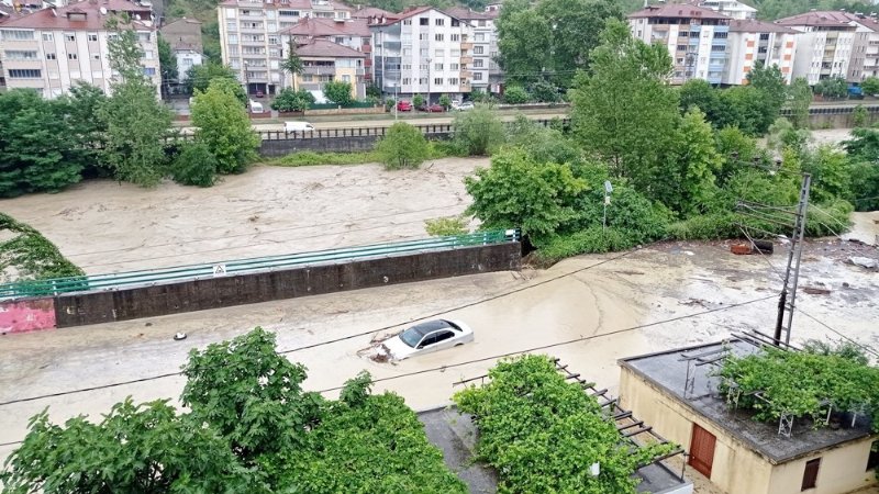
<path id="1" fill-rule="evenodd" d="M 192 103 L 192 125 L 196 141 L 204 144 L 216 157 L 220 173 L 241 173 L 256 158 L 259 136 L 241 105 L 235 104 L 237 83 L 215 79 L 205 92 L 196 92 Z"/>

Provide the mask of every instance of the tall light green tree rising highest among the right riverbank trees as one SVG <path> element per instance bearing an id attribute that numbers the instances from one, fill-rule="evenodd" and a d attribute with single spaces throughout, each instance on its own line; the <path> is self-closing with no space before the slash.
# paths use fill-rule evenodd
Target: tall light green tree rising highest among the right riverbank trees
<path id="1" fill-rule="evenodd" d="M 610 164 L 614 177 L 648 191 L 680 120 L 678 93 L 666 83 L 671 58 L 664 46 L 632 38 L 620 21 L 609 21 L 601 36 L 591 74 L 577 76 L 571 124 L 583 148 Z"/>

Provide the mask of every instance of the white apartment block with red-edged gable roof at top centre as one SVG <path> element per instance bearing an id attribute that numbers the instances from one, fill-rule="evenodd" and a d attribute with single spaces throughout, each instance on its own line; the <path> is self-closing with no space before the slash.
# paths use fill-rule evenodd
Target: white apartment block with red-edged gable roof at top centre
<path id="1" fill-rule="evenodd" d="M 383 94 L 422 94 L 435 101 L 442 94 L 455 99 L 470 92 L 476 45 L 468 22 L 433 7 L 419 7 L 369 29 L 374 79 Z M 485 46 L 480 45 L 483 50 Z M 487 55 L 483 52 L 480 58 Z M 480 67 L 480 74 L 486 72 Z"/>

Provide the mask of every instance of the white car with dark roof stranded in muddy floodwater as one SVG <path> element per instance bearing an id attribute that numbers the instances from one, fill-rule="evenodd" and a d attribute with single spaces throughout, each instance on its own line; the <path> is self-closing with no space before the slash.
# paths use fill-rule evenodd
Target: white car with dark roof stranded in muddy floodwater
<path id="1" fill-rule="evenodd" d="M 435 319 L 416 324 L 382 345 L 392 360 L 403 360 L 457 347 L 474 340 L 474 332 L 460 321 Z"/>

